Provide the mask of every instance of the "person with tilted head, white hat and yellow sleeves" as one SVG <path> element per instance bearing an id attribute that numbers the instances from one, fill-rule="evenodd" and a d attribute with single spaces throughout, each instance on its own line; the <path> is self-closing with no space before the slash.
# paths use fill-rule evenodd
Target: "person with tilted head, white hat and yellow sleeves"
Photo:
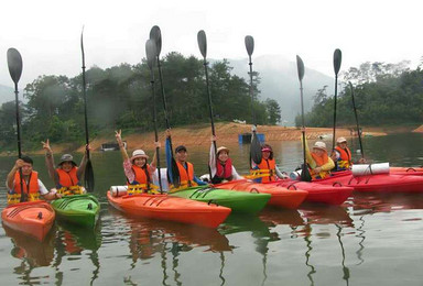
<path id="1" fill-rule="evenodd" d="M 321 179 L 330 175 L 330 169 L 335 167 L 335 163 L 327 155 L 325 142 L 317 141 L 314 143 L 312 152 L 308 150 L 308 144 L 305 143 L 305 154 L 313 179 Z"/>

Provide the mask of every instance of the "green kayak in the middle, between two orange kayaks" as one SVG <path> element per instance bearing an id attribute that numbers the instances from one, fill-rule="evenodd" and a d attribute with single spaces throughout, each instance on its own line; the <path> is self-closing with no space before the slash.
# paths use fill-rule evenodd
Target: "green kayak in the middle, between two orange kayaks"
<path id="1" fill-rule="evenodd" d="M 271 196 L 269 194 L 235 191 L 210 187 L 192 187 L 170 193 L 170 195 L 208 204 L 216 204 L 231 208 L 232 212 L 258 212 L 264 208 Z"/>

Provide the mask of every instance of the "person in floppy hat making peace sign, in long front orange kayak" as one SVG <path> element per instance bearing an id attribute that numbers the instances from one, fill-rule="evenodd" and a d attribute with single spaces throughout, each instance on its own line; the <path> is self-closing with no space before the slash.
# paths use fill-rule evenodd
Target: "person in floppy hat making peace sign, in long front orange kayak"
<path id="1" fill-rule="evenodd" d="M 115 131 L 116 141 L 119 144 L 120 153 L 123 158 L 123 172 L 127 177 L 128 195 L 133 194 L 159 194 L 159 187 L 153 184 L 153 174 L 156 169 L 158 158 L 154 152 L 153 161 L 148 164 L 149 156 L 141 148 L 132 152 L 132 156 L 129 157 L 127 150 L 122 142 L 122 131 Z M 160 143 L 154 143 L 156 147 L 160 147 Z"/>

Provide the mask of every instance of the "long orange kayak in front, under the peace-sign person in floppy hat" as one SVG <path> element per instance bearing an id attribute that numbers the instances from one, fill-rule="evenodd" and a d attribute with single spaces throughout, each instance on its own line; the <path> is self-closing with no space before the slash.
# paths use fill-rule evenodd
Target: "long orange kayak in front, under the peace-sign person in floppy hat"
<path id="1" fill-rule="evenodd" d="M 112 207 L 126 213 L 207 228 L 217 228 L 230 213 L 230 209 L 226 207 L 169 195 L 137 194 L 112 197 L 110 191 L 107 191 L 107 199 Z"/>

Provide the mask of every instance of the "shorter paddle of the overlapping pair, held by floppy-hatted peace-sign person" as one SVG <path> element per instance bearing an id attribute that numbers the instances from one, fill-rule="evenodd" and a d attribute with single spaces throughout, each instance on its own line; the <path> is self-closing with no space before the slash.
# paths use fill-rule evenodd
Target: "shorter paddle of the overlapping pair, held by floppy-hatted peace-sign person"
<path id="1" fill-rule="evenodd" d="M 155 112 L 155 86 L 154 86 L 154 65 L 155 65 L 155 56 L 156 56 L 156 48 L 155 43 L 153 40 L 148 40 L 145 43 L 145 54 L 147 54 L 147 64 L 150 68 L 151 74 L 151 94 L 153 97 L 153 122 L 154 122 L 154 139 L 155 142 L 159 141 L 158 135 L 158 116 Z M 159 175 L 159 187 L 160 187 L 160 194 L 163 194 L 162 188 L 162 174 L 160 173 L 160 153 L 159 153 L 159 146 L 155 147 L 155 157 L 158 160 L 158 175 Z"/>

